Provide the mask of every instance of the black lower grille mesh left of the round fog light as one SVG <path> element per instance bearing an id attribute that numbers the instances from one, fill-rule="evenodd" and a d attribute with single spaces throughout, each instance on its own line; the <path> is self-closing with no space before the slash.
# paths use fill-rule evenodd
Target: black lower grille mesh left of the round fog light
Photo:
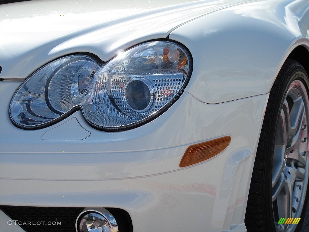
<path id="1" fill-rule="evenodd" d="M 75 221 L 84 208 L 0 206 L 0 209 L 27 232 L 75 232 Z"/>

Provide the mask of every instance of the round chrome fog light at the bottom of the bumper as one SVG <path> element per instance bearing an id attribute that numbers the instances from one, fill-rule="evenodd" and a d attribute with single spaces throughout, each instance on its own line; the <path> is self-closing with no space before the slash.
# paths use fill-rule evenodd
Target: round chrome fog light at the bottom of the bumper
<path id="1" fill-rule="evenodd" d="M 77 217 L 75 223 L 76 232 L 118 232 L 118 224 L 114 216 L 106 209 L 84 210 Z"/>

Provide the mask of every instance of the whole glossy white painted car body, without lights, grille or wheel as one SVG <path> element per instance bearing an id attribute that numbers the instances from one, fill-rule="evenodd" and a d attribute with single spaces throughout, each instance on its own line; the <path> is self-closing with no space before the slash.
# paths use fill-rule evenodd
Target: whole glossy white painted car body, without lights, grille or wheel
<path id="1" fill-rule="evenodd" d="M 121 208 L 134 232 L 246 231 L 269 91 L 292 51 L 309 47 L 307 0 L 30 1 L 0 5 L 0 31 L 0 205 Z M 120 132 L 80 111 L 36 130 L 10 121 L 15 91 L 44 64 L 76 53 L 108 62 L 166 38 L 190 51 L 193 73 L 153 121 Z M 180 168 L 188 146 L 224 135 L 222 153 Z M 0 211 L 2 231 L 23 231 L 8 220 Z"/>

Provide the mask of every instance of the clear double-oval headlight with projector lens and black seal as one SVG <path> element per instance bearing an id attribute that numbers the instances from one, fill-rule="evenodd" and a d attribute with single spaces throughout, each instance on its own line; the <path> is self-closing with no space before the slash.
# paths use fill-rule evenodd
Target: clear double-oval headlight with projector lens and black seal
<path id="1" fill-rule="evenodd" d="M 12 122 L 35 129 L 80 109 L 98 129 L 138 127 L 159 116 L 188 83 L 192 61 L 167 41 L 138 45 L 100 65 L 85 55 L 55 60 L 31 75 L 15 93 Z"/>

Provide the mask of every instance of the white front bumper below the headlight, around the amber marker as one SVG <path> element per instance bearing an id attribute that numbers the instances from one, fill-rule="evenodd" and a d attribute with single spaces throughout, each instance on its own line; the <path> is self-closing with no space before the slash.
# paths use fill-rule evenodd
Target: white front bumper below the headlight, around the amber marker
<path id="1" fill-rule="evenodd" d="M 20 84 L 0 82 L 0 205 L 121 208 L 134 232 L 245 230 L 268 94 L 205 104 L 184 92 L 164 114 L 129 131 L 95 130 L 79 111 L 22 130 L 8 116 Z M 189 145 L 222 135 L 232 138 L 222 153 L 179 167 Z M 7 217 L 0 212 L 1 224 Z"/>

